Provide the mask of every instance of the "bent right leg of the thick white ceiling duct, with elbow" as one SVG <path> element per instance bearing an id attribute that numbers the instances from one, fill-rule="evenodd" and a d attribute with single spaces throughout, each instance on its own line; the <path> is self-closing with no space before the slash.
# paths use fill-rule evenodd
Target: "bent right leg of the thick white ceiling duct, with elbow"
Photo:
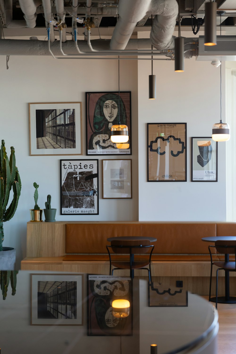
<path id="1" fill-rule="evenodd" d="M 178 16 L 175 0 L 152 0 L 148 15 L 156 14 L 151 28 L 150 40 L 159 50 L 174 48 L 174 27 Z"/>

